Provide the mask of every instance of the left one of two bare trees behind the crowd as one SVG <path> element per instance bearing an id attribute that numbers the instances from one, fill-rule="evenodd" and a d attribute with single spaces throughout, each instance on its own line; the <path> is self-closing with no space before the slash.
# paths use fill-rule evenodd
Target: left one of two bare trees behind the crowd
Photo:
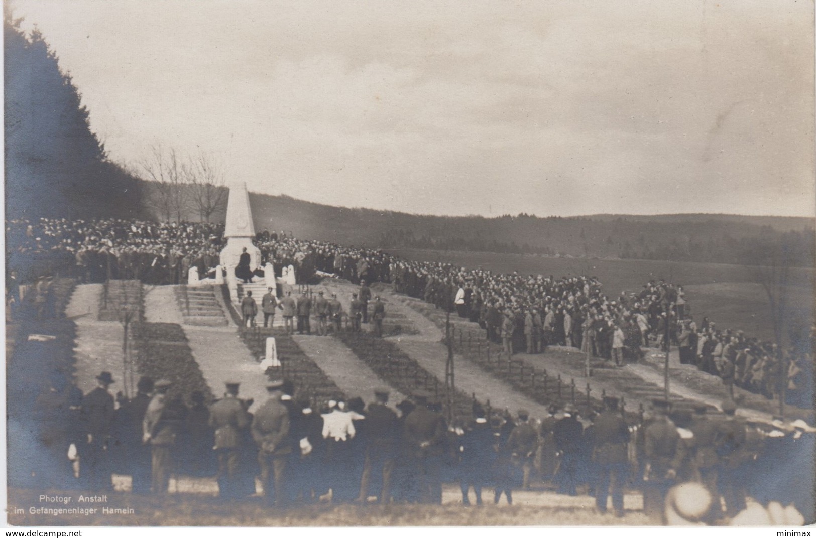
<path id="1" fill-rule="evenodd" d="M 175 149 L 165 151 L 161 145 L 151 148 L 151 156 L 140 161 L 145 179 L 153 183 L 151 202 L 162 220 L 181 222 L 187 206 L 188 189 L 184 183 L 188 170 Z"/>

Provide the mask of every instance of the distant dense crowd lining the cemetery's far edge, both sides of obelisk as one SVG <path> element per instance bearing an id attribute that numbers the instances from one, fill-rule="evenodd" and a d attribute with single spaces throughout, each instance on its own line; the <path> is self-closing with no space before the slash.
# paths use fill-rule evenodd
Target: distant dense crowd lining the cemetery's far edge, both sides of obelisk
<path id="1" fill-rule="evenodd" d="M 6 232 L 12 270 L 25 265 L 16 261 L 40 255 L 60 259 L 63 271 L 75 271 L 91 282 L 135 278 L 178 284 L 190 267 L 197 267 L 202 277 L 213 274 L 224 247 L 223 224 L 210 223 L 41 218 L 7 221 Z M 572 346 L 622 365 L 641 359 L 642 346 L 673 344 L 682 363 L 721 377 L 730 390 L 738 386 L 769 399 L 784 391 L 789 404 L 812 404 L 814 328 L 789 349 L 778 350 L 775 343 L 742 331 L 717 329 L 705 317 L 698 324 L 689 315 L 682 286 L 664 280 L 610 298 L 591 276 L 494 274 L 481 267 L 468 270 L 409 261 L 381 250 L 297 240 L 283 232 L 259 232 L 255 245 L 263 262 L 273 261 L 276 271 L 294 267 L 298 282 L 316 275 L 389 282 L 399 293 L 478 322 L 508 354 Z M 9 289 L 25 280 L 17 273 L 11 271 L 13 278 L 7 278 L 7 298 Z"/>

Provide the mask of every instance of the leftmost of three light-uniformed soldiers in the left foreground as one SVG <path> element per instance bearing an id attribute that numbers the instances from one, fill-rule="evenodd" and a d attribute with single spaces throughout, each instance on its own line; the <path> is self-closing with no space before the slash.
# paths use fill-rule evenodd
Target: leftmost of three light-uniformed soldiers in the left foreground
<path id="1" fill-rule="evenodd" d="M 172 450 L 175 438 L 184 423 L 186 409 L 179 399 L 168 399 L 171 381 L 156 381 L 156 393 L 144 412 L 143 438 L 150 444 L 152 474 L 150 488 L 154 495 L 165 495 L 173 473 Z"/>

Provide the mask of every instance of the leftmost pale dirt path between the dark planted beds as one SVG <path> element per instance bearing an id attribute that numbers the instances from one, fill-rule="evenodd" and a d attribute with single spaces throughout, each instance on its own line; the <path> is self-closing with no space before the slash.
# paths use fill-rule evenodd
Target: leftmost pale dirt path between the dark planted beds
<path id="1" fill-rule="evenodd" d="M 118 321 L 99 321 L 100 296 L 103 284 L 79 284 L 65 307 L 65 317 L 77 324 L 73 356 L 77 360 L 77 386 L 85 394 L 96 386 L 95 377 L 102 371 L 113 374 L 118 383 L 113 392 L 122 387 L 122 337 L 124 329 Z"/>

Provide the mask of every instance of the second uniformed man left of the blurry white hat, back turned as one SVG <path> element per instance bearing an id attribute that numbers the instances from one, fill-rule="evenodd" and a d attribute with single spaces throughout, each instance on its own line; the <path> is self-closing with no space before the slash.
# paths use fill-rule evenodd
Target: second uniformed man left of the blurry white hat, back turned
<path id="1" fill-rule="evenodd" d="M 627 477 L 629 429 L 618 410 L 619 400 L 605 396 L 604 410 L 595 419 L 595 443 L 592 461 L 598 472 L 595 486 L 595 506 L 606 513 L 606 500 L 612 487 L 612 508 L 615 516 L 623 517 L 623 483 Z"/>

